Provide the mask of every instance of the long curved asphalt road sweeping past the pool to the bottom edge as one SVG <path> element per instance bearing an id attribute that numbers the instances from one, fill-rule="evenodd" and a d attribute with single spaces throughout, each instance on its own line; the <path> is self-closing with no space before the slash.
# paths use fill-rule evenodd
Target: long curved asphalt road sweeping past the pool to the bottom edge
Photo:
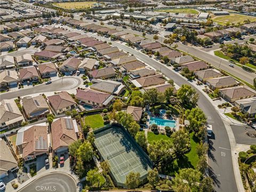
<path id="1" fill-rule="evenodd" d="M 99 38 L 97 35 L 92 36 Z M 103 39 L 105 40 L 106 38 Z M 109 39 L 106 40 L 109 41 Z M 150 59 L 147 55 L 120 43 L 114 41 L 111 41 L 111 43 L 113 46 L 117 46 L 119 49 L 133 54 L 135 57 L 154 67 L 155 69 L 161 70 L 165 76 L 173 79 L 174 82 L 179 86 L 182 84 L 190 84 L 186 79 L 179 76 L 173 70 L 160 65 L 157 61 Z M 190 85 L 193 86 L 192 84 Z M 194 88 L 196 89 L 196 87 Z M 217 110 L 215 110 L 215 108 L 212 106 L 211 102 L 201 92 L 198 91 L 198 93 L 200 97 L 198 107 L 204 111 L 208 118 L 209 124 L 211 124 L 213 127 L 214 137 L 210 139 L 209 174 L 214 180 L 215 190 L 223 192 L 236 192 L 238 190 L 233 171 L 230 143 L 225 125 L 223 124 Z"/>

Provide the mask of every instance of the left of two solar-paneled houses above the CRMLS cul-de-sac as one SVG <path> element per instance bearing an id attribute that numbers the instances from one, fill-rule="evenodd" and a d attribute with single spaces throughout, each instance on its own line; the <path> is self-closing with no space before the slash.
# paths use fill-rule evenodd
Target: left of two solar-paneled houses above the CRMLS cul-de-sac
<path id="1" fill-rule="evenodd" d="M 16 146 L 24 161 L 38 155 L 49 154 L 48 127 L 46 123 L 28 125 L 17 132 Z"/>

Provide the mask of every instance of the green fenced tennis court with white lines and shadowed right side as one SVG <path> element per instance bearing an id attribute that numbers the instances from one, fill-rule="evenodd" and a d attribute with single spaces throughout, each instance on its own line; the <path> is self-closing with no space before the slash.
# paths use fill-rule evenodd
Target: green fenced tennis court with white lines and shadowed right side
<path id="1" fill-rule="evenodd" d="M 94 144 L 102 158 L 109 162 L 117 186 L 124 187 L 126 175 L 130 172 L 139 172 L 142 181 L 147 179 L 152 163 L 123 127 L 111 126 L 94 134 Z"/>

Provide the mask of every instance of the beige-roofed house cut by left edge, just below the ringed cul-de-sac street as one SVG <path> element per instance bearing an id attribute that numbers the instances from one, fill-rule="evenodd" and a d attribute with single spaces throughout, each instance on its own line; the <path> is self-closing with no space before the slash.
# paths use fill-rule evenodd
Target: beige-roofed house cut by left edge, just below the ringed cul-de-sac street
<path id="1" fill-rule="evenodd" d="M 0 128 L 11 129 L 18 126 L 24 120 L 20 109 L 13 99 L 3 99 L 0 101 Z"/>

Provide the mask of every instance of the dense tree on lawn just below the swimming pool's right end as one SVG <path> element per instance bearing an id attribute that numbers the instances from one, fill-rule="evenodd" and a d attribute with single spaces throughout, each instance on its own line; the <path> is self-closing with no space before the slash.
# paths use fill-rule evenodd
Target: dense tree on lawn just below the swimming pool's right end
<path id="1" fill-rule="evenodd" d="M 188 144 L 188 134 L 182 130 L 176 131 L 171 135 L 173 147 L 175 151 L 180 151 Z"/>

